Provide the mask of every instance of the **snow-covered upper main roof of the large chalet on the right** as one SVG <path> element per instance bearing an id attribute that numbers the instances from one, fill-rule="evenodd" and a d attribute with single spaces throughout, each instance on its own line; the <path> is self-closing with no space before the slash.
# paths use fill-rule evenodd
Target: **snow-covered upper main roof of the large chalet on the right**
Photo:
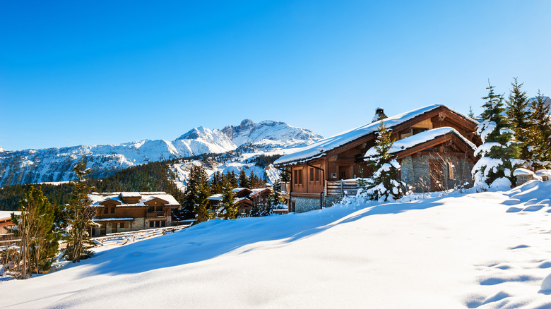
<path id="1" fill-rule="evenodd" d="M 449 107 L 446 107 L 446 105 L 444 104 L 429 105 L 427 107 L 422 107 L 420 109 L 413 109 L 412 111 L 408 111 L 403 114 L 387 117 L 383 119 L 383 123 L 386 125 L 387 128 L 393 128 L 395 126 L 398 126 L 401 123 L 404 123 L 405 121 L 413 119 L 417 116 L 421 116 L 422 114 L 426 114 L 429 111 L 433 111 L 434 109 L 438 109 L 440 107 L 449 109 Z M 452 109 L 449 109 L 449 110 L 453 111 Z M 464 116 L 463 114 L 458 113 L 457 111 L 454 111 L 454 113 L 463 116 L 465 119 L 469 119 L 467 116 Z M 470 120 L 470 121 L 473 121 L 473 120 Z M 279 159 L 275 160 L 273 164 L 274 165 L 297 164 L 300 162 L 306 162 L 311 159 L 317 159 L 319 157 L 323 157 L 330 150 L 333 150 L 337 147 L 345 145 L 346 143 L 350 143 L 354 140 L 357 140 L 358 138 L 362 138 L 363 136 L 368 135 L 370 133 L 374 133 L 375 131 L 377 131 L 377 127 L 379 127 L 380 124 L 381 124 L 380 121 L 376 121 L 376 122 L 368 123 L 365 126 L 360 126 L 358 128 L 353 128 L 352 130 L 349 130 L 349 131 L 338 133 L 337 135 L 333 135 L 329 138 L 325 138 L 324 140 L 320 140 L 319 142 L 308 145 L 307 147 L 299 148 L 297 152 L 280 157 Z"/>

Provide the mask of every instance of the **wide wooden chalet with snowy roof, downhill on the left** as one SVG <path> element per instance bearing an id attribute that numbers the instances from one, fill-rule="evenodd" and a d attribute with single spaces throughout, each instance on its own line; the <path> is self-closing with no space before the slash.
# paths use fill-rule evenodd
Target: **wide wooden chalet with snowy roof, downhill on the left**
<path id="1" fill-rule="evenodd" d="M 93 236 L 170 226 L 172 210 L 180 207 L 164 192 L 92 193 L 88 199 L 96 209 L 94 222 L 100 224 Z"/>

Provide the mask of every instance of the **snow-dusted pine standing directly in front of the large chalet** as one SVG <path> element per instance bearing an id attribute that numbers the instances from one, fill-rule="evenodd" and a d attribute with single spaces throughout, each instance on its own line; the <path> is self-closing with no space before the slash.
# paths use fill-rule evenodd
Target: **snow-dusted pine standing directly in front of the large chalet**
<path id="1" fill-rule="evenodd" d="M 389 150 L 393 145 L 391 131 L 384 126 L 383 121 L 377 128 L 376 154 L 370 160 L 373 176 L 368 178 L 365 185 L 365 193 L 371 200 L 380 202 L 393 201 L 405 194 L 405 183 L 397 180 L 400 164 L 393 159 Z"/>

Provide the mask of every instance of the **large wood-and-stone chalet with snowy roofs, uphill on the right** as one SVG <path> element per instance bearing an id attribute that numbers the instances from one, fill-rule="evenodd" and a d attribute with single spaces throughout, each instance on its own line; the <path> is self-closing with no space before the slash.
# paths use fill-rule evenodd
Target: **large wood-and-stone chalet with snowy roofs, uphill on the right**
<path id="1" fill-rule="evenodd" d="M 275 160 L 276 167 L 290 169 L 289 211 L 319 209 L 342 195 L 355 193 L 355 178 L 373 173 L 369 160 L 375 154 L 381 121 L 395 140 L 391 153 L 401 164 L 399 178 L 414 191 L 446 190 L 472 183 L 474 151 L 481 143 L 475 134 L 477 121 L 442 104 L 391 117 L 377 108 L 371 123 Z"/>

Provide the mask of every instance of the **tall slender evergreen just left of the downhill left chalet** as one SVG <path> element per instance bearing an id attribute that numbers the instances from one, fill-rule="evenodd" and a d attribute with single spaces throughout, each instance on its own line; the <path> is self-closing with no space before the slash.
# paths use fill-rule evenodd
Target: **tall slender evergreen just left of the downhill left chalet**
<path id="1" fill-rule="evenodd" d="M 93 222 L 95 217 L 95 208 L 90 207 L 88 194 L 92 188 L 88 185 L 88 175 L 92 172 L 86 168 L 86 162 L 81 159 L 74 167 L 77 176 L 76 181 L 71 181 L 73 198 L 66 206 L 67 214 L 65 241 L 67 248 L 65 255 L 72 262 L 80 262 L 81 259 L 90 257 L 93 252 L 90 250 L 94 245 L 90 239 L 88 231 L 95 228 L 97 224 Z"/>

